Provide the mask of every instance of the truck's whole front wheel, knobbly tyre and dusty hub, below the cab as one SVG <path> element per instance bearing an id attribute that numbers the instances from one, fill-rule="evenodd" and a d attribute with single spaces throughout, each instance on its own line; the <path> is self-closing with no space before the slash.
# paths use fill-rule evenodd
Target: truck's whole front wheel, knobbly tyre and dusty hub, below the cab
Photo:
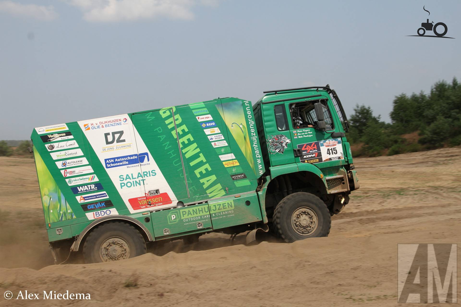
<path id="1" fill-rule="evenodd" d="M 273 223 L 278 236 L 291 243 L 308 237 L 327 237 L 331 228 L 331 215 L 319 197 L 298 192 L 278 203 Z"/>

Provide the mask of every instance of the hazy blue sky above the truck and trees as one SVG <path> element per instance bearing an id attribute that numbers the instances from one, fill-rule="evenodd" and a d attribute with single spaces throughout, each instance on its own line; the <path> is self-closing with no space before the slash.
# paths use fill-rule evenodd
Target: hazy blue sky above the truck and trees
<path id="1" fill-rule="evenodd" d="M 459 12 L 461 1 L 0 0 L 0 139 L 327 83 L 348 115 L 366 104 L 389 121 L 394 96 L 461 78 Z M 426 18 L 455 39 L 406 36 Z"/>

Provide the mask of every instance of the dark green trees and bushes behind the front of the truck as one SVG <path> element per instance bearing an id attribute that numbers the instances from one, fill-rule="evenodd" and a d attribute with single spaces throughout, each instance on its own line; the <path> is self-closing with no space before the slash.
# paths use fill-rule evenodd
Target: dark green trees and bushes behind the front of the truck
<path id="1" fill-rule="evenodd" d="M 394 98 L 390 123 L 357 104 L 349 117 L 348 141 L 354 156 L 396 155 L 461 145 L 461 85 L 438 81 L 430 93 L 402 93 Z M 408 135 L 416 138 L 408 138 Z M 416 140 L 414 140 L 416 139 Z"/>

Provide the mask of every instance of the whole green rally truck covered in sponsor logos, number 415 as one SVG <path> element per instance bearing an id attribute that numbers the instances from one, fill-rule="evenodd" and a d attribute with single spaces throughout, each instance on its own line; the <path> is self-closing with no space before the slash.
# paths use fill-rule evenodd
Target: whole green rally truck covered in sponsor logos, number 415
<path id="1" fill-rule="evenodd" d="M 359 188 L 343 106 L 328 85 L 264 93 L 34 128 L 55 260 L 127 259 L 207 232 L 327 236 Z"/>

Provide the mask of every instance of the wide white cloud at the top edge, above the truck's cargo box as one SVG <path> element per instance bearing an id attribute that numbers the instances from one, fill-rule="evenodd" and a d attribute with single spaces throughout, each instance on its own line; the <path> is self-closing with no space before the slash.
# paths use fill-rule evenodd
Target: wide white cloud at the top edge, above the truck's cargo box
<path id="1" fill-rule="evenodd" d="M 213 6 L 217 0 L 67 0 L 83 11 L 83 18 L 94 22 L 132 21 L 169 17 L 191 20 L 193 6 Z"/>

